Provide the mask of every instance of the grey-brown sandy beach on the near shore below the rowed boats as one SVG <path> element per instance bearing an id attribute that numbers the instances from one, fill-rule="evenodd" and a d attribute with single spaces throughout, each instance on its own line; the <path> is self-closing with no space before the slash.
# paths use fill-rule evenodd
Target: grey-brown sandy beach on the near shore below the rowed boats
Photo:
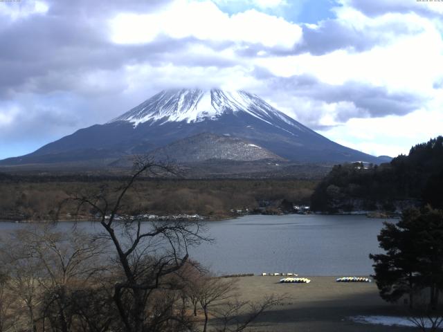
<path id="1" fill-rule="evenodd" d="M 352 322 L 358 315 L 406 315 L 404 306 L 389 304 L 379 297 L 372 283 L 338 283 L 336 277 L 308 277 L 309 284 L 280 284 L 281 277 L 241 277 L 239 295 L 258 300 L 275 294 L 286 296 L 280 306 L 264 313 L 255 331 L 415 331 L 410 327 Z"/>

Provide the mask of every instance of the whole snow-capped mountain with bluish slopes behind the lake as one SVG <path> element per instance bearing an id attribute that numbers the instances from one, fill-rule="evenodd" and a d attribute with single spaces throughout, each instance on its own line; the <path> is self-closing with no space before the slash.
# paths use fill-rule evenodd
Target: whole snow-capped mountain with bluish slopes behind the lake
<path id="1" fill-rule="evenodd" d="M 199 136 L 203 133 L 206 136 Z M 192 145 L 206 152 L 196 154 Z M 246 152 L 245 147 L 253 145 L 257 148 Z M 242 156 L 235 156 L 235 149 L 240 146 Z M 180 161 L 195 161 L 197 157 L 257 160 L 271 156 L 297 163 L 380 161 L 328 140 L 257 95 L 245 91 L 181 89 L 161 91 L 105 124 L 80 129 L 32 154 L 1 160 L 0 165 L 108 165 L 125 156 L 152 151 L 176 156 Z"/>

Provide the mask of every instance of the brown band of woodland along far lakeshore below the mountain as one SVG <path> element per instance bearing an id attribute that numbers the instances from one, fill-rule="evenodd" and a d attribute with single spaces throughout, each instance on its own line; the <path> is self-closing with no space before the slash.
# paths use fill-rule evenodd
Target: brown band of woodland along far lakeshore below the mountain
<path id="1" fill-rule="evenodd" d="M 3 175 L 0 181 L 0 220 L 73 219 L 69 197 L 116 192 L 125 176 Z M 309 204 L 318 181 L 309 180 L 183 180 L 141 179 L 125 196 L 122 214 L 201 214 L 225 217 L 230 210 L 278 210 L 282 201 Z M 64 202 L 62 204 L 62 202 Z M 95 212 L 82 210 L 88 219 Z"/>

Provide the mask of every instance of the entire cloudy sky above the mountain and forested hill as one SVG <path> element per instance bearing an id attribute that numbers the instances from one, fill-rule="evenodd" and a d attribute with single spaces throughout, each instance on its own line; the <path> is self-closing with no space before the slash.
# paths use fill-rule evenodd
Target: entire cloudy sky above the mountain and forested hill
<path id="1" fill-rule="evenodd" d="M 443 1 L 0 0 L 0 158 L 177 87 L 405 154 L 443 134 Z"/>

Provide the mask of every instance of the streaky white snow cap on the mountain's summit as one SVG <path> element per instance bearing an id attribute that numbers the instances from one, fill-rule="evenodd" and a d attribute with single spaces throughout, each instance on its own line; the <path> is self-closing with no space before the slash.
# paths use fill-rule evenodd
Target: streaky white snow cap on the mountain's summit
<path id="1" fill-rule="evenodd" d="M 160 124 L 181 121 L 192 123 L 217 120 L 223 114 L 233 113 L 235 115 L 241 112 L 248 113 L 275 127 L 278 126 L 273 120 L 278 118 L 298 130 L 304 130 L 302 126 L 298 125 L 298 122 L 274 109 L 256 95 L 245 91 L 222 91 L 219 89 L 161 91 L 108 123 L 127 121 L 133 123 L 134 126 L 148 121 L 159 121 Z"/>

